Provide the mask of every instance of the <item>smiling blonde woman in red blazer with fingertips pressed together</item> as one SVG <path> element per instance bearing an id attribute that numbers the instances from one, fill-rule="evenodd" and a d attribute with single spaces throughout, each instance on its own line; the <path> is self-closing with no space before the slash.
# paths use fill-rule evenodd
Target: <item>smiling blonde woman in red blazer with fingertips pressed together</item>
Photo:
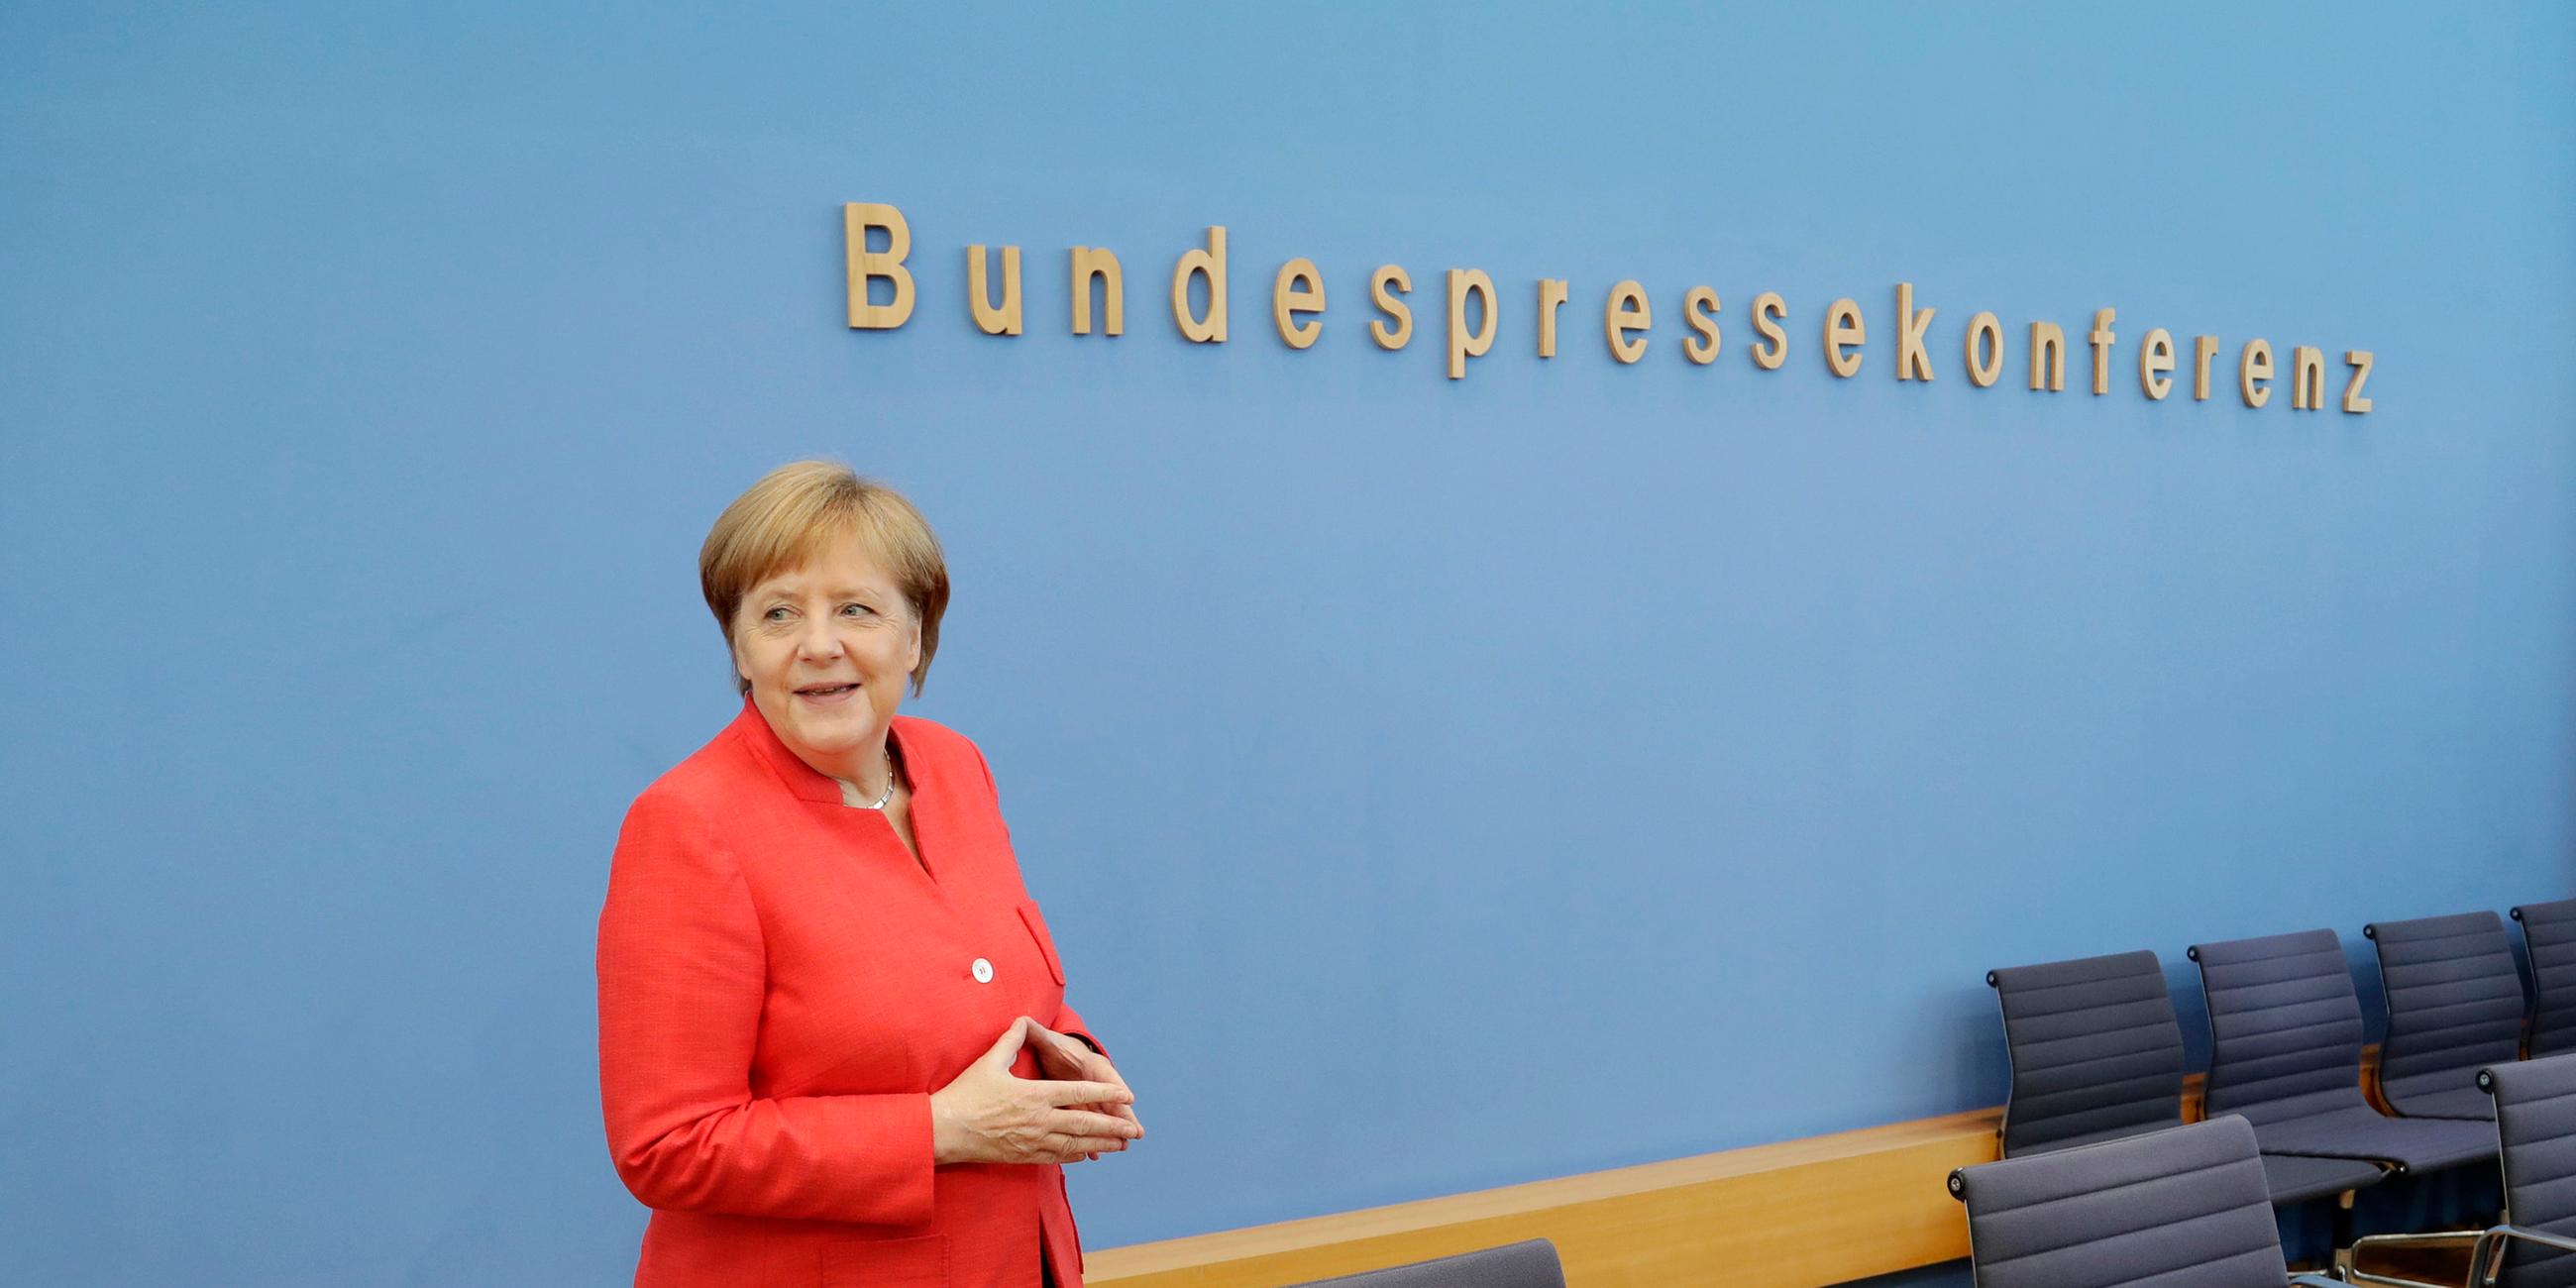
<path id="1" fill-rule="evenodd" d="M 636 1285 L 1077 1288 L 1059 1164 L 1144 1128 L 981 752 L 894 714 L 938 652 L 938 538 L 801 461 L 716 518 L 698 580 L 742 714 L 626 811 L 600 912 Z"/>

